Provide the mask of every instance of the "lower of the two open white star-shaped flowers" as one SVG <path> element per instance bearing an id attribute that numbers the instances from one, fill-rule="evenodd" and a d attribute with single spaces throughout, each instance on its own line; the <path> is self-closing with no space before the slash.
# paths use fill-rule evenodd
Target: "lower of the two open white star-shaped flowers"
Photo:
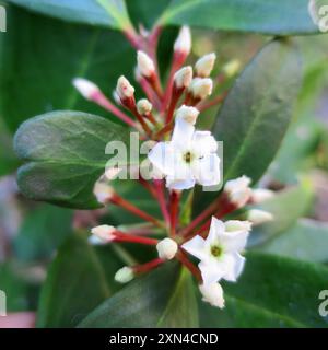
<path id="1" fill-rule="evenodd" d="M 221 279 L 236 281 L 243 271 L 245 258 L 241 252 L 246 246 L 249 231 L 243 225 L 235 228 L 226 231 L 224 223 L 213 217 L 206 240 L 197 235 L 183 244 L 185 250 L 200 259 L 198 267 L 203 284 L 215 283 Z"/>

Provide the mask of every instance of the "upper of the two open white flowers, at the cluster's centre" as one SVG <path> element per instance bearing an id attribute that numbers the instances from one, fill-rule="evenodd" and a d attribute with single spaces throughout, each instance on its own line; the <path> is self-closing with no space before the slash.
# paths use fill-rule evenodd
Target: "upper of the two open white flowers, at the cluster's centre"
<path id="1" fill-rule="evenodd" d="M 156 143 L 149 160 L 166 176 L 166 186 L 171 189 L 188 189 L 196 183 L 218 185 L 220 159 L 215 153 L 215 139 L 210 131 L 196 131 L 192 122 L 186 120 L 185 113 L 181 114 L 184 117 L 177 115 L 175 119 L 172 140 Z"/>

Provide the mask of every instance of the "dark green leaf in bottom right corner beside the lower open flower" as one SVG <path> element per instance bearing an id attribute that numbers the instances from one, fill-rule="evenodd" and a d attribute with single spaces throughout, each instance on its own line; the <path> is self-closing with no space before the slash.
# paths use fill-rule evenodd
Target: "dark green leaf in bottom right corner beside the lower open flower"
<path id="1" fill-rule="evenodd" d="M 265 254 L 247 254 L 237 283 L 224 283 L 223 311 L 202 304 L 202 327 L 327 327 L 318 312 L 328 269 Z"/>

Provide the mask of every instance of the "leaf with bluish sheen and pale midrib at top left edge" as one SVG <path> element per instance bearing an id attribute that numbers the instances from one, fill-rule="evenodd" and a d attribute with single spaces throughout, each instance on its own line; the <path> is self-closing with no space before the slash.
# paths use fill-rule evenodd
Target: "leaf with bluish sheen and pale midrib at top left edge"
<path id="1" fill-rule="evenodd" d="M 129 16 L 124 0 L 7 0 L 63 21 L 124 28 Z"/>

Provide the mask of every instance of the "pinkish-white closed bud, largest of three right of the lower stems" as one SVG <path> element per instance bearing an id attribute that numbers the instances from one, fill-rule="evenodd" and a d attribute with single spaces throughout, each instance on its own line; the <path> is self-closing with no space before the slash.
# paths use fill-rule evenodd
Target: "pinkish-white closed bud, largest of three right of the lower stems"
<path id="1" fill-rule="evenodd" d="M 226 182 L 224 191 L 227 194 L 229 199 L 237 208 L 244 207 L 251 196 L 250 178 L 247 176 L 241 176 L 235 179 Z"/>

